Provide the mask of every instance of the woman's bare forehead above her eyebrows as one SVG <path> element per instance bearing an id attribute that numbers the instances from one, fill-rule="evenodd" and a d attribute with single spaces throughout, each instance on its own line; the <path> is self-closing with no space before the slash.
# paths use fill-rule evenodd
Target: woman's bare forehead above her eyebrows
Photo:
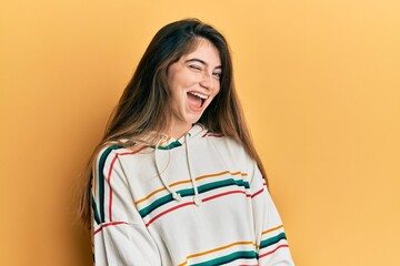
<path id="1" fill-rule="evenodd" d="M 182 55 L 183 60 L 200 59 L 211 66 L 220 66 L 221 58 L 218 49 L 209 40 L 199 38 L 192 49 Z"/>

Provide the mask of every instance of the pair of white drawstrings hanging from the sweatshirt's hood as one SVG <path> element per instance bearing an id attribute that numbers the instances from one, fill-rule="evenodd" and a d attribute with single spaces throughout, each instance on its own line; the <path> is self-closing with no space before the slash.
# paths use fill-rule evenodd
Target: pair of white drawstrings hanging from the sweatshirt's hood
<path id="1" fill-rule="evenodd" d="M 190 152 L 189 152 L 189 142 L 188 142 L 188 137 L 190 137 L 190 136 L 191 136 L 190 133 L 184 134 L 186 157 L 187 157 L 187 164 L 188 164 L 190 181 L 192 183 L 193 191 L 194 191 L 193 203 L 194 203 L 196 206 L 200 206 L 201 203 L 202 203 L 202 200 L 200 197 L 198 186 L 197 186 L 197 182 L 196 182 L 196 178 L 194 178 L 194 176 L 192 174 L 192 168 L 191 168 L 191 165 L 190 165 Z M 167 166 L 162 171 L 159 170 L 159 164 L 158 164 L 158 161 L 157 161 L 158 150 L 166 140 L 167 140 L 166 135 L 162 134 L 160 141 L 158 141 L 158 143 L 156 145 L 156 149 L 154 149 L 154 160 L 156 160 L 157 174 L 160 177 L 160 181 L 161 181 L 162 185 L 166 187 L 166 190 L 169 193 L 171 193 L 173 200 L 176 200 L 177 202 L 180 202 L 182 200 L 182 196 L 179 193 L 177 193 L 172 187 L 170 187 L 168 185 L 168 183 L 164 181 L 164 178 L 162 177 L 162 172 L 166 171 L 166 168 L 168 167 L 168 165 L 170 163 L 170 160 L 171 160 L 171 151 L 170 151 L 170 149 L 168 149 Z"/>

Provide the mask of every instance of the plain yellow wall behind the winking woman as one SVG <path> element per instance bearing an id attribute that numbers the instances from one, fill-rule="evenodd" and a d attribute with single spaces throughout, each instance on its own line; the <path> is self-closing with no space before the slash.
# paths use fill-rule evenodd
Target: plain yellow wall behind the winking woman
<path id="1" fill-rule="evenodd" d="M 0 265 L 90 265 L 78 175 L 156 31 L 228 38 L 297 265 L 400 265 L 397 0 L 1 0 Z"/>

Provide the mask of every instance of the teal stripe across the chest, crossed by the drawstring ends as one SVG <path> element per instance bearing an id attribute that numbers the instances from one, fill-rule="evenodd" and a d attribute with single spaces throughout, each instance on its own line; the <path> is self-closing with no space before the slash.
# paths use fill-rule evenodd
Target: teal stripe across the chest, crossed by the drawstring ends
<path id="1" fill-rule="evenodd" d="M 217 181 L 217 182 L 201 185 L 198 187 L 198 191 L 199 191 L 199 193 L 204 193 L 208 191 L 217 190 L 217 188 L 224 187 L 224 186 L 231 186 L 231 185 L 243 186 L 246 188 L 250 187 L 249 182 L 244 182 L 243 180 L 229 178 L 229 180 L 224 180 L 224 181 Z M 177 193 L 179 193 L 182 197 L 194 195 L 193 188 L 180 190 Z M 144 218 L 152 211 L 154 211 L 158 207 L 161 207 L 162 205 L 164 205 L 171 201 L 173 201 L 171 194 L 162 196 L 162 197 L 156 200 L 154 202 L 152 202 L 147 207 L 143 207 L 142 209 L 140 209 L 139 214 L 142 218 Z"/>

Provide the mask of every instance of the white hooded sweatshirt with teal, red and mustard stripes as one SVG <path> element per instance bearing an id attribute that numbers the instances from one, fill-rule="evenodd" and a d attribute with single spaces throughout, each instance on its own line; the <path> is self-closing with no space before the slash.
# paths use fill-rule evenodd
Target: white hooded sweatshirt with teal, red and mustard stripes
<path id="1" fill-rule="evenodd" d="M 97 266 L 293 265 L 257 163 L 201 124 L 139 151 L 104 147 L 92 216 Z"/>

